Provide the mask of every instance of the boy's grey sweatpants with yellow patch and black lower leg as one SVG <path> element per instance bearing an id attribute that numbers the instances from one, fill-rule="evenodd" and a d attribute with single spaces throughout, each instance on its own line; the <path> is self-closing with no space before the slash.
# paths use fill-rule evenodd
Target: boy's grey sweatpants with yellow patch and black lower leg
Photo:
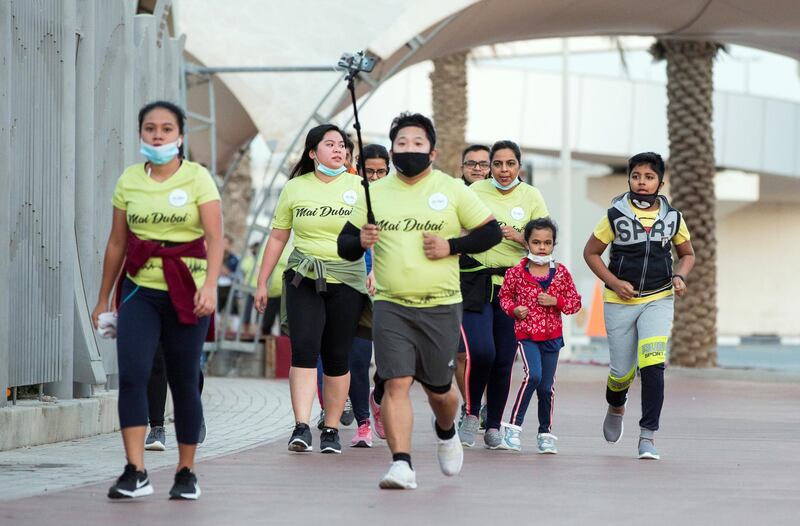
<path id="1" fill-rule="evenodd" d="M 605 303 L 611 371 L 606 400 L 613 407 L 625 405 L 636 368 L 642 379 L 642 418 L 639 426 L 658 429 L 664 405 L 664 363 L 672 332 L 672 296 L 639 305 Z"/>

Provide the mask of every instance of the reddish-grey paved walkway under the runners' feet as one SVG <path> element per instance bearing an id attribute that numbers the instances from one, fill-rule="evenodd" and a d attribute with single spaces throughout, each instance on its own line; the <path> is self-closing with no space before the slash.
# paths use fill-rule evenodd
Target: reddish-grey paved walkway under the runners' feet
<path id="1" fill-rule="evenodd" d="M 635 458 L 638 382 L 628 405 L 625 436 L 614 446 L 603 441 L 604 376 L 601 367 L 560 368 L 553 429 L 560 439 L 557 456 L 535 454 L 531 412 L 522 453 L 467 450 L 464 470 L 455 478 L 438 471 L 429 409 L 415 388 L 416 491 L 377 488 L 390 460 L 384 442 L 371 450 L 346 448 L 338 456 L 290 454 L 285 446 L 288 426 L 281 418 L 275 420 L 283 426 L 277 440 L 198 464 L 204 492 L 199 502 L 168 501 L 173 470 L 165 468 L 152 470 L 152 497 L 109 501 L 105 493 L 110 480 L 104 480 L 0 502 L 0 524 L 797 524 L 796 378 L 670 370 L 657 437 L 662 460 L 654 462 Z M 253 382 L 267 384 L 264 389 L 286 388 Z M 285 403 L 285 392 L 275 396 Z M 215 429 L 221 428 L 209 426 L 209 450 Z M 268 439 L 266 429 L 261 433 Z M 343 440 L 352 433 L 345 430 Z M 253 432 L 254 440 L 257 434 Z M 120 451 L 117 444 L 111 452 L 116 464 L 109 479 L 118 474 Z M 0 464 L 5 464 L 2 455 Z M 28 473 L 25 480 L 38 478 L 41 471 Z M 6 491 L 5 485 L 0 491 Z"/>

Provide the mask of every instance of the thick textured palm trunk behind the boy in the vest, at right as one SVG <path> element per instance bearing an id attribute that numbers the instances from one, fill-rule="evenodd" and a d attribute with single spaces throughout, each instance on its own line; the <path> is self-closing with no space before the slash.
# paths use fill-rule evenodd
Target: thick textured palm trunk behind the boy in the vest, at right
<path id="1" fill-rule="evenodd" d="M 717 239 L 714 220 L 712 130 L 715 42 L 658 40 L 650 48 L 667 61 L 669 180 L 674 206 L 692 236 L 696 266 L 688 294 L 675 302 L 670 362 L 686 367 L 717 364 Z"/>

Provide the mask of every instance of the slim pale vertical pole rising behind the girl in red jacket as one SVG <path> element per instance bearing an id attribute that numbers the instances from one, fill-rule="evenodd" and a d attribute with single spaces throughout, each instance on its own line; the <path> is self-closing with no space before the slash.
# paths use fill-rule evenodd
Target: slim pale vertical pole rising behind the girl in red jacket
<path id="1" fill-rule="evenodd" d="M 561 230 L 559 259 L 572 270 L 572 144 L 569 116 L 569 40 L 561 39 Z M 564 351 L 572 356 L 572 317 L 564 316 Z"/>

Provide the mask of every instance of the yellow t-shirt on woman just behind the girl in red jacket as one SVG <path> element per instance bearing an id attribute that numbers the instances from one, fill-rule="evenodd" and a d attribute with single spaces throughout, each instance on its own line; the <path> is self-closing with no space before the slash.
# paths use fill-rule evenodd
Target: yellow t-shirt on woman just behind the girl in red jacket
<path id="1" fill-rule="evenodd" d="M 528 221 L 550 215 L 542 193 L 527 183 L 520 183 L 507 194 L 500 193 L 491 179 L 473 183 L 469 189 L 489 207 L 500 226 L 508 225 L 517 232 L 523 232 Z M 503 239 L 500 244 L 472 257 L 487 267 L 513 267 L 527 253 L 528 249 L 516 241 Z M 503 276 L 492 276 L 492 282 L 502 285 Z"/>

